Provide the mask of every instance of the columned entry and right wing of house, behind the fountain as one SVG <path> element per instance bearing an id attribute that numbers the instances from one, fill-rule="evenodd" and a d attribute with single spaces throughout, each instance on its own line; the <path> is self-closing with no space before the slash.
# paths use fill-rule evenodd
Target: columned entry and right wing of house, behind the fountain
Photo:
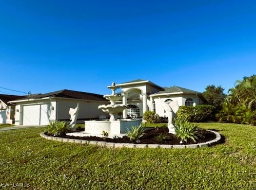
<path id="1" fill-rule="evenodd" d="M 120 83 L 116 86 L 121 88 L 123 97 L 118 104 L 127 105 L 127 109 L 123 111 L 123 118 L 133 115 L 142 117 L 143 113 L 148 110 L 155 111 L 159 116 L 164 117 L 165 112 L 160 100 L 163 102 L 177 101 L 179 106 L 199 105 L 206 102 L 201 92 L 178 86 L 161 87 L 141 79 Z"/>

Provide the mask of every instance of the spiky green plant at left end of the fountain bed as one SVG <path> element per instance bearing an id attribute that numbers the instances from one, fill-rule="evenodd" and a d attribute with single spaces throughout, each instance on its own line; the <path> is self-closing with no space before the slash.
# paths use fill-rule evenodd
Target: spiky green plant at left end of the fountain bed
<path id="1" fill-rule="evenodd" d="M 47 134 L 53 136 L 64 136 L 70 130 L 66 121 L 52 121 L 47 125 Z"/>

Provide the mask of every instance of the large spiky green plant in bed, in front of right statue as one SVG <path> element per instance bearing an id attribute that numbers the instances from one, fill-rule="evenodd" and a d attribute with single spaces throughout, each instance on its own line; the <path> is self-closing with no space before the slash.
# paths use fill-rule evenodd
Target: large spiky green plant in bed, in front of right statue
<path id="1" fill-rule="evenodd" d="M 187 142 L 188 139 L 197 141 L 200 134 L 197 131 L 197 126 L 190 123 L 184 118 L 175 120 L 176 136 L 181 138 L 182 142 Z"/>

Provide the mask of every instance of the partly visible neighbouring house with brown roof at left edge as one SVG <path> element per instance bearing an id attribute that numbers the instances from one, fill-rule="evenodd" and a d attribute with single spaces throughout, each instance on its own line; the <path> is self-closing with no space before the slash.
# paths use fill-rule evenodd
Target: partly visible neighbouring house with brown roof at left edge
<path id="1" fill-rule="evenodd" d="M 0 94 L 0 124 L 13 124 L 15 118 L 15 105 L 8 103 L 9 101 L 24 98 L 25 96 L 15 96 Z"/>

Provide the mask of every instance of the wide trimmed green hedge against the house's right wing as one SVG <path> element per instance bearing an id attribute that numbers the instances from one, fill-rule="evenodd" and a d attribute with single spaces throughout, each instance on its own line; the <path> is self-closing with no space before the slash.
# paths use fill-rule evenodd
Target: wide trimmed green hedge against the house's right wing
<path id="1" fill-rule="evenodd" d="M 206 122 L 216 120 L 216 108 L 213 105 L 180 106 L 177 118 L 185 118 L 190 122 Z"/>

